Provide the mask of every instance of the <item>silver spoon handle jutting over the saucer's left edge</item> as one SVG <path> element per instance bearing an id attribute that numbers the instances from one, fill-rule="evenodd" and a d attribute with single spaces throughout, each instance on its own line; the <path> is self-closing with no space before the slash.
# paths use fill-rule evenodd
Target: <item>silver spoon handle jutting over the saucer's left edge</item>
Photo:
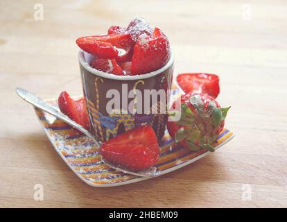
<path id="1" fill-rule="evenodd" d="M 52 114 L 53 116 L 57 117 L 58 119 L 61 119 L 65 123 L 68 123 L 69 125 L 73 126 L 73 128 L 76 128 L 77 130 L 80 130 L 80 132 L 82 132 L 85 135 L 87 135 L 87 137 L 92 138 L 94 140 L 94 142 L 96 143 L 96 146 L 98 146 L 98 147 L 100 146 L 98 141 L 96 141 L 94 136 L 91 133 L 89 133 L 88 130 L 83 128 L 80 124 L 76 123 L 75 121 L 71 120 L 69 117 L 67 117 L 62 112 L 60 112 L 60 111 L 56 110 L 55 108 L 53 108 L 52 105 L 50 105 L 49 103 L 46 103 L 40 97 L 36 96 L 35 94 L 29 92 L 26 89 L 17 88 L 16 92 L 22 99 L 24 99 L 24 101 L 26 101 L 28 103 L 31 103 L 36 108 L 38 108 L 40 110 L 43 110 L 45 112 L 48 112 L 49 114 Z"/>

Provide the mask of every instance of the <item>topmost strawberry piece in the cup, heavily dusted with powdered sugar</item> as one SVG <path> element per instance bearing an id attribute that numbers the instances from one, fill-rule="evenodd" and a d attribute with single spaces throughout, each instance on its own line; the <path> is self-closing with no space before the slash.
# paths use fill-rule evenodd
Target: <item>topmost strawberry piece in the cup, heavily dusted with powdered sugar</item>
<path id="1" fill-rule="evenodd" d="M 150 37 L 153 36 L 154 28 L 148 22 L 146 22 L 143 18 L 135 18 L 132 19 L 126 31 L 132 35 L 132 40 L 134 44 L 139 40 L 139 36 L 142 34 L 146 34 Z"/>

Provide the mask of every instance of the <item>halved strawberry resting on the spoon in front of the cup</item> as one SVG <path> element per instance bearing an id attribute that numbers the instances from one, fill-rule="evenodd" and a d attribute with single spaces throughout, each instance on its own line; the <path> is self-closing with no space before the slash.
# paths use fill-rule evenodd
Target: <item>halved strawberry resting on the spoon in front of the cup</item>
<path id="1" fill-rule="evenodd" d="M 159 158 L 157 137 L 151 126 L 139 126 L 104 142 L 101 155 L 107 162 L 132 171 L 152 167 Z"/>

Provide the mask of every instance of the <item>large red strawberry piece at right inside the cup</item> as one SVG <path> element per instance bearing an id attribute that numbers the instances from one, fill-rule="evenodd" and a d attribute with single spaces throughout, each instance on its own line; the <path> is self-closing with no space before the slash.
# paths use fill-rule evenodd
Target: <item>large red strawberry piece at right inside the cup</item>
<path id="1" fill-rule="evenodd" d="M 169 42 L 159 28 L 155 28 L 153 37 L 141 35 L 134 46 L 131 74 L 146 74 L 163 67 L 169 54 Z"/>

